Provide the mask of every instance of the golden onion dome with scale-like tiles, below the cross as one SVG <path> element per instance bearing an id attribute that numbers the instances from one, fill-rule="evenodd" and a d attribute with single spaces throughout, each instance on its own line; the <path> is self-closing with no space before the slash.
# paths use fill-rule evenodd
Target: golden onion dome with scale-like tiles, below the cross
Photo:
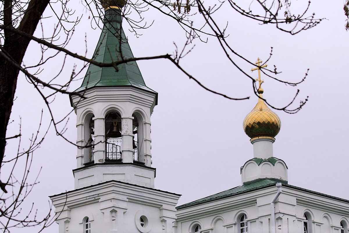
<path id="1" fill-rule="evenodd" d="M 263 89 L 258 90 L 259 97 L 263 98 Z M 258 99 L 256 106 L 244 119 L 244 130 L 251 140 L 259 137 L 271 137 L 279 133 L 281 122 L 279 116 L 270 110 L 262 99 Z"/>

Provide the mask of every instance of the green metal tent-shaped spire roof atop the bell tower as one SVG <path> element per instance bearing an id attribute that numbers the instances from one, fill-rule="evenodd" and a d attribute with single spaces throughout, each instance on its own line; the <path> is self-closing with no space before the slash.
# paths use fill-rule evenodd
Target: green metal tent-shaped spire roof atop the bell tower
<path id="1" fill-rule="evenodd" d="M 101 63 L 112 63 L 130 58 L 134 56 L 124 30 L 121 28 L 120 10 L 106 9 L 104 26 L 93 59 Z M 117 68 L 118 70 L 114 67 L 99 67 L 90 64 L 81 87 L 75 91 L 81 92 L 92 87 L 133 86 L 155 93 L 157 102 L 157 93 L 146 86 L 136 61 L 120 64 Z"/>

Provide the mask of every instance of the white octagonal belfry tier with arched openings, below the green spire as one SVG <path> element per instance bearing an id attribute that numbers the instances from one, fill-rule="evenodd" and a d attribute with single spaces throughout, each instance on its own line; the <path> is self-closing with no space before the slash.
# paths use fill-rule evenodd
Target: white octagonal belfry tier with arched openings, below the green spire
<path id="1" fill-rule="evenodd" d="M 156 93 L 133 86 L 93 87 L 72 96 L 77 116 L 75 188 L 118 180 L 154 188 L 150 114 Z"/>

